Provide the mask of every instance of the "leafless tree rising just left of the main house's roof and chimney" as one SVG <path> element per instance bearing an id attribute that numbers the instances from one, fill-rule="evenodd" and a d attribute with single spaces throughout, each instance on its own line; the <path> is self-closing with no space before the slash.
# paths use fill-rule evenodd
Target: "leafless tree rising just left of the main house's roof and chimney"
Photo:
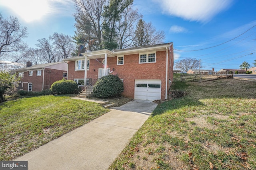
<path id="1" fill-rule="evenodd" d="M 55 49 L 59 51 L 61 59 L 67 59 L 71 57 L 72 51 L 75 49 L 75 45 L 72 42 L 72 37 L 70 35 L 64 35 L 63 33 L 53 33 L 50 39 L 54 40 L 53 44 Z"/>

